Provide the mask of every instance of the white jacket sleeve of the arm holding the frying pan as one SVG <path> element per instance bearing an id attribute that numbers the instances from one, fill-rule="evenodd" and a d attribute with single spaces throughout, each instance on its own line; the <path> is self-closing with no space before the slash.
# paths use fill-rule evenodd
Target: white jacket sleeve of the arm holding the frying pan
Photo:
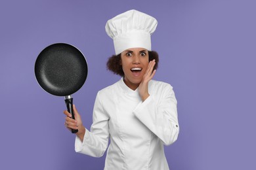
<path id="1" fill-rule="evenodd" d="M 108 147 L 109 116 L 102 107 L 99 93 L 96 96 L 95 106 L 93 109 L 93 124 L 91 131 L 86 129 L 83 143 L 78 137 L 75 137 L 75 152 L 87 154 L 93 157 L 100 157 Z"/>

